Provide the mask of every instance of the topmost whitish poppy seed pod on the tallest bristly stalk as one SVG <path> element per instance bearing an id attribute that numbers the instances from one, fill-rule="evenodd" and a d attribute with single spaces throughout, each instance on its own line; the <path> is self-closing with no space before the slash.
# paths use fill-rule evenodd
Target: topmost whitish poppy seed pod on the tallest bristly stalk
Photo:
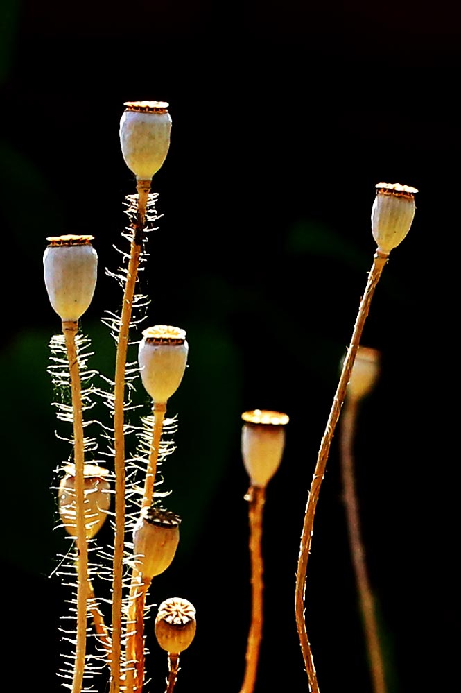
<path id="1" fill-rule="evenodd" d="M 120 120 L 123 159 L 137 180 L 150 180 L 170 146 L 171 116 L 165 101 L 126 101 Z"/>

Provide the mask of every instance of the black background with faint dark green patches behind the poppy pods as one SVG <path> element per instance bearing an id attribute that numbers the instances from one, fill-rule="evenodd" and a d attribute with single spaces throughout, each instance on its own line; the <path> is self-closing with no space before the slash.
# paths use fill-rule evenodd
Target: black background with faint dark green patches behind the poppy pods
<path id="1" fill-rule="evenodd" d="M 56 627 L 69 597 L 49 577 L 64 542 L 53 532 L 49 487 L 67 449 L 55 438 L 46 373 L 60 330 L 42 277 L 46 237 L 94 234 L 100 277 L 81 322 L 94 367 L 110 376 L 114 348 L 100 318 L 119 308 L 121 293 L 104 268 L 119 263 L 112 246 L 121 245 L 123 198 L 134 192 L 119 120 L 124 101 L 159 99 L 170 103 L 173 130 L 153 182 L 164 216 L 150 235 L 142 289 L 152 298 L 147 324 L 181 326 L 190 345 L 168 406 L 180 427 L 164 470 L 182 541 L 151 597 L 183 596 L 198 610 L 177 691 L 241 685 L 250 587 L 240 416 L 254 407 L 290 416 L 266 504 L 257 691 L 307 690 L 293 613 L 299 536 L 372 264 L 369 214 L 380 181 L 419 194 L 363 334 L 382 354 L 356 440 L 363 533 L 389 691 L 453 690 L 458 16 L 449 3 L 3 0 L 1 27 L 3 631 L 20 686 L 59 690 Z M 315 518 L 306 608 L 322 692 L 371 690 L 338 436 Z M 157 692 L 166 662 L 151 644 L 148 688 Z"/>

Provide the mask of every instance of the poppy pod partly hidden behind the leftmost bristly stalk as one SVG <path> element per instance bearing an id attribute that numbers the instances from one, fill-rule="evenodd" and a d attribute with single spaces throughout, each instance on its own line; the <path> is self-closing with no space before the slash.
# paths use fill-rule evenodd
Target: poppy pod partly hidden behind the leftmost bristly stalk
<path id="1" fill-rule="evenodd" d="M 62 477 L 58 490 L 58 506 L 62 524 L 67 533 L 77 536 L 76 472 L 73 465 L 66 465 L 67 474 Z M 94 464 L 83 468 L 85 497 L 85 533 L 92 539 L 101 529 L 110 508 L 110 484 L 105 477 L 109 470 Z"/>

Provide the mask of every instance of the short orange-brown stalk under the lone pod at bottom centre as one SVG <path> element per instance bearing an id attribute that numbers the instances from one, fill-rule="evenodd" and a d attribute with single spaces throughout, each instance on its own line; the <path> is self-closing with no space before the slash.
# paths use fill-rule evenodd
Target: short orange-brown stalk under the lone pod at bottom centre
<path id="1" fill-rule="evenodd" d="M 259 662 L 259 650 L 263 633 L 263 508 L 266 501 L 266 488 L 250 486 L 245 498 L 248 501 L 248 520 L 250 524 L 250 559 L 252 584 L 252 616 L 245 654 L 245 676 L 240 693 L 253 693 Z"/>

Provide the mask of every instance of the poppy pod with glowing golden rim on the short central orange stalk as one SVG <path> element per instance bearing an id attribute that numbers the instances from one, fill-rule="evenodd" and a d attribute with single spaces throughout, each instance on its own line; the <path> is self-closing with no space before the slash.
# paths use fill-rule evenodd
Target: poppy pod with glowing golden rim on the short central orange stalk
<path id="1" fill-rule="evenodd" d="M 288 416 L 279 411 L 254 409 L 242 414 L 241 450 L 252 486 L 267 486 L 279 468 L 285 447 Z"/>

